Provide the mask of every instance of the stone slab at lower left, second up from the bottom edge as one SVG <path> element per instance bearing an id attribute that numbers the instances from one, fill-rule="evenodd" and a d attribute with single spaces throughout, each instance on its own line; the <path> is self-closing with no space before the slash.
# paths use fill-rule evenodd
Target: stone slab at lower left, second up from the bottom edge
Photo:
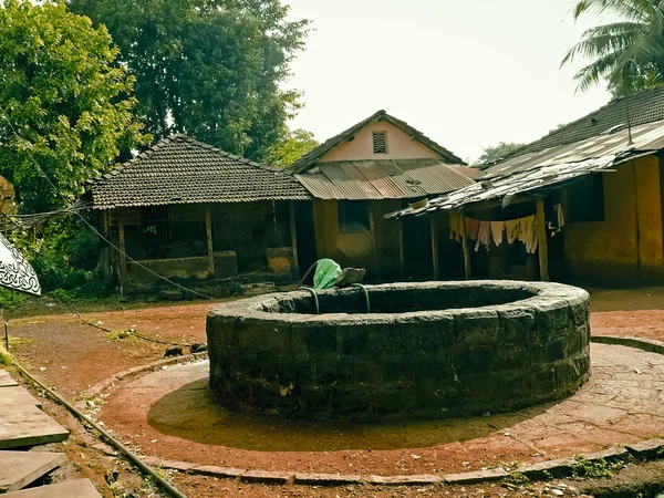
<path id="1" fill-rule="evenodd" d="M 65 460 L 62 453 L 0 452 L 0 492 L 18 491 Z"/>

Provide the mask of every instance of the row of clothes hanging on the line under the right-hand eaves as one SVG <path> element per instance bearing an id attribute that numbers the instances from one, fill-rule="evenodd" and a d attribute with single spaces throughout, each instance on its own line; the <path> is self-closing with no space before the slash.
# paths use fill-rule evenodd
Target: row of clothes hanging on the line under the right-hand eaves
<path id="1" fill-rule="evenodd" d="M 554 207 L 554 216 L 557 219 L 550 220 L 548 229 L 552 235 L 556 235 L 564 226 L 564 217 L 562 206 L 560 204 Z M 537 238 L 537 220 L 536 216 L 526 216 L 523 218 L 510 219 L 507 221 L 480 221 L 474 218 L 466 218 L 458 212 L 452 212 L 449 216 L 449 238 L 460 242 L 464 234 L 464 222 L 466 224 L 466 232 L 469 240 L 477 240 L 475 251 L 479 250 L 480 246 L 485 246 L 487 250 L 491 241 L 496 246 L 500 246 L 507 235 L 509 245 L 519 240 L 526 246 L 526 252 L 535 253 L 538 247 Z"/>

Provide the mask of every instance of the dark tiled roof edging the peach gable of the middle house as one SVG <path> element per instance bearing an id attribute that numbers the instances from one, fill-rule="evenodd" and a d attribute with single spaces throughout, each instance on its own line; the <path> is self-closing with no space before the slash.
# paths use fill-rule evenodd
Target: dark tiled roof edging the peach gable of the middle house
<path id="1" fill-rule="evenodd" d="M 369 116 L 366 120 L 361 121 L 360 123 L 355 124 L 354 126 L 351 126 L 350 128 L 345 129 L 344 132 L 340 133 L 339 135 L 333 136 L 329 141 L 322 143 L 321 145 L 319 145 L 318 147 L 315 147 L 313 151 L 311 151 L 308 154 L 303 155 L 302 157 L 300 157 L 298 160 L 295 160 L 290 166 L 290 169 L 292 169 L 294 173 L 303 173 L 307 169 L 313 167 L 313 165 L 315 165 L 315 163 L 322 156 L 324 156 L 331 149 L 333 149 L 334 147 L 336 147 L 343 141 L 345 141 L 345 139 L 350 138 L 351 136 L 355 135 L 363 127 L 365 127 L 367 124 L 370 124 L 370 123 L 372 123 L 374 121 L 386 121 L 387 123 L 396 126 L 402 132 L 404 132 L 404 133 L 408 134 L 409 136 L 412 136 L 413 138 L 417 139 L 419 143 L 422 143 L 426 147 L 428 147 L 432 151 L 440 154 L 440 156 L 443 156 L 443 158 L 445 159 L 446 163 L 449 163 L 449 164 L 465 164 L 461 158 L 455 156 L 452 152 L 447 151 L 442 145 L 437 144 L 436 142 L 434 142 L 429 137 L 425 136 L 422 132 L 418 132 L 413 126 L 411 126 L 409 124 L 407 124 L 405 121 L 397 120 L 396 117 L 391 116 L 390 114 L 387 114 L 385 111 L 378 111 L 377 113 L 372 114 L 371 116 Z"/>

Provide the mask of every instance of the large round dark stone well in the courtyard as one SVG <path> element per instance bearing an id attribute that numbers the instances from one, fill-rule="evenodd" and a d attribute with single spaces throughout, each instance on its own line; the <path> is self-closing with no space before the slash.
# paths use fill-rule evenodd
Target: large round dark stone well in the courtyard
<path id="1" fill-rule="evenodd" d="M 588 380 L 585 291 L 434 282 L 262 295 L 207 318 L 225 406 L 302 417 L 440 418 L 563 398 Z"/>

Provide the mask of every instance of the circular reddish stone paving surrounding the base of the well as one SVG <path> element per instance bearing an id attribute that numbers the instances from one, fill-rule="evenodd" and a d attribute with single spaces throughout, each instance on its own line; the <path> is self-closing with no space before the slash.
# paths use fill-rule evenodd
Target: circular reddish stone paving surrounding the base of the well
<path id="1" fill-rule="evenodd" d="M 513 414 L 412 424 L 317 425 L 232 414 L 212 403 L 208 362 L 117 388 L 101 418 L 151 456 L 198 465 L 343 474 L 433 474 L 533 463 L 664 434 L 664 356 L 592 344 L 590 381 Z"/>

